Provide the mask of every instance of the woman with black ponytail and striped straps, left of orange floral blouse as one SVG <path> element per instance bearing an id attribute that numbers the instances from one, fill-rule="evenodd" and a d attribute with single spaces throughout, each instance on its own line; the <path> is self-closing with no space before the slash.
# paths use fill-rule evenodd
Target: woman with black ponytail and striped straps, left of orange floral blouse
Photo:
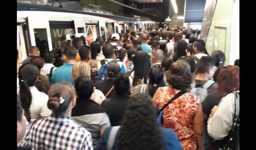
<path id="1" fill-rule="evenodd" d="M 155 91 L 159 87 L 165 86 L 164 71 L 159 66 L 151 67 L 148 79 L 149 79 L 148 84 L 140 84 L 140 85 L 135 86 L 133 88 L 134 89 L 133 94 L 136 94 L 138 92 L 143 92 L 152 98 L 155 94 Z"/>

